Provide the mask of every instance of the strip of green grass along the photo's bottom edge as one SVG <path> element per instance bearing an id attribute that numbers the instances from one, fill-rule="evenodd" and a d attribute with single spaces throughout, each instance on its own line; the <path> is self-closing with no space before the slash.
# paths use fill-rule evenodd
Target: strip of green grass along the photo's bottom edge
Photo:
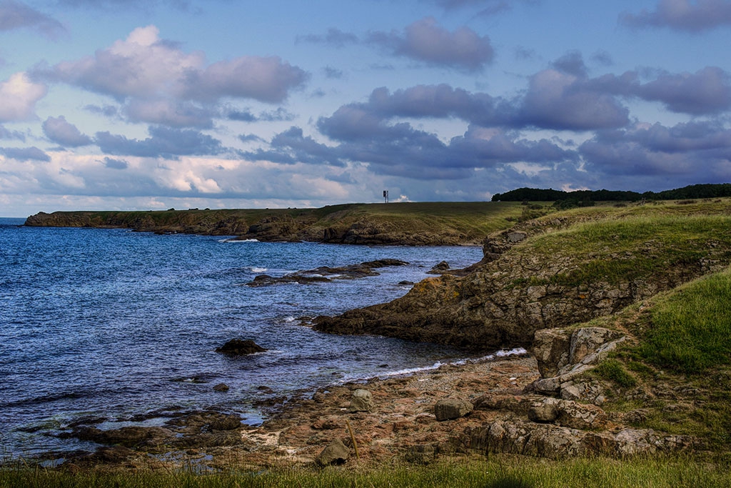
<path id="1" fill-rule="evenodd" d="M 487 461 L 446 461 L 429 466 L 398 465 L 376 470 L 346 467 L 246 473 L 105 473 L 83 470 L 0 470 L 0 487 L 727 487 L 727 465 L 692 459 L 540 459 L 493 456 Z"/>

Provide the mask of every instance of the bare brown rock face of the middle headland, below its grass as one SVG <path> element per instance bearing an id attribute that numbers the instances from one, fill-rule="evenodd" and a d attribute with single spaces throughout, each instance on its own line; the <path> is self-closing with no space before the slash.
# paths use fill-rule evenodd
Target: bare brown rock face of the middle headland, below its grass
<path id="1" fill-rule="evenodd" d="M 731 239 L 694 245 L 695 258 L 678 252 L 673 266 L 657 266 L 653 256 L 667 249 L 651 239 L 636 253 L 618 252 L 607 241 L 597 252 L 583 255 L 568 244 L 552 255 L 534 252 L 532 239 L 575 222 L 542 219 L 493 234 L 483 247 L 480 263 L 464 276 L 444 274 L 418 282 L 387 304 L 355 309 L 336 317 L 318 317 L 314 329 L 335 334 L 374 334 L 413 341 L 436 342 L 477 350 L 528 347 L 540 329 L 566 327 L 654 296 L 662 290 L 700 277 L 731 263 Z M 597 263 L 641 257 L 646 266 L 632 277 L 594 273 Z M 708 263 L 713 263 L 711 268 Z M 599 265 L 601 266 L 601 265 Z M 584 277 L 577 279 L 575 277 Z"/>

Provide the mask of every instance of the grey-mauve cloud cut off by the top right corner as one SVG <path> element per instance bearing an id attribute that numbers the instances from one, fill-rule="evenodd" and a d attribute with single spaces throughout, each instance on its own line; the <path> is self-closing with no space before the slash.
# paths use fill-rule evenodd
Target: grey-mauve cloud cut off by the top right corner
<path id="1" fill-rule="evenodd" d="M 639 29 L 668 27 L 680 31 L 700 32 L 731 25 L 731 2 L 728 0 L 659 0 L 654 10 L 639 14 L 624 12 L 619 22 Z"/>

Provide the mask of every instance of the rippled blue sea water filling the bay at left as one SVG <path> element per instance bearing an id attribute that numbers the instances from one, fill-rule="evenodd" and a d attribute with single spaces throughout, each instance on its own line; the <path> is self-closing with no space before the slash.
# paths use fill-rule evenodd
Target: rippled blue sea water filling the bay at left
<path id="1" fill-rule="evenodd" d="M 477 247 L 356 247 L 227 241 L 120 229 L 26 228 L 0 219 L 0 457 L 93 448 L 59 438 L 69 424 L 121 425 L 152 412 L 216 408 L 261 421 L 268 395 L 431 367 L 463 353 L 383 337 L 323 334 L 303 316 L 404 295 L 439 261 Z M 381 258 L 376 277 L 251 288 L 257 274 Z M 229 339 L 268 351 L 232 359 Z M 230 390 L 213 391 L 217 383 Z M 262 392 L 267 386 L 271 392 Z"/>

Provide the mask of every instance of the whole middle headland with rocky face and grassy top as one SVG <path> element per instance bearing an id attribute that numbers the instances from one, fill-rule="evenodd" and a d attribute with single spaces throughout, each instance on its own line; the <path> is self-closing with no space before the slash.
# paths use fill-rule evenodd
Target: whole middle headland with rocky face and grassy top
<path id="1" fill-rule="evenodd" d="M 401 299 L 319 317 L 314 328 L 475 350 L 529 347 L 539 329 L 609 315 L 729 266 L 731 236 L 722 230 L 731 225 L 729 214 L 677 210 L 675 217 L 671 209 L 670 216 L 651 212 L 650 220 L 629 217 L 627 224 L 611 213 L 526 222 L 493 234 L 485 259 L 465 276 L 425 279 Z"/>

